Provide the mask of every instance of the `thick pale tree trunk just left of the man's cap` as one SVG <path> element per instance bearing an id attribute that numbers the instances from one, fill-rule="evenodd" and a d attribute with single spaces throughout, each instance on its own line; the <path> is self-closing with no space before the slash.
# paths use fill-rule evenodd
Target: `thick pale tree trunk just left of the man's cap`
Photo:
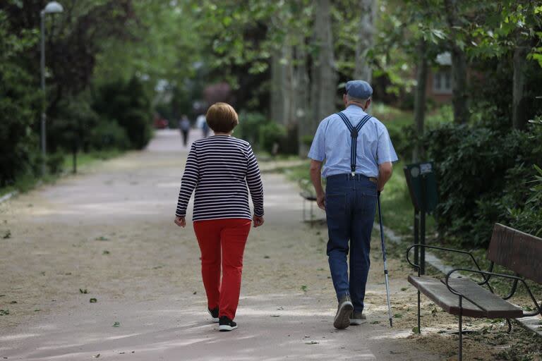
<path id="1" fill-rule="evenodd" d="M 313 59 L 311 108 L 311 132 L 318 123 L 335 111 L 337 74 L 331 31 L 330 0 L 315 1 L 314 39 L 317 54 Z"/>

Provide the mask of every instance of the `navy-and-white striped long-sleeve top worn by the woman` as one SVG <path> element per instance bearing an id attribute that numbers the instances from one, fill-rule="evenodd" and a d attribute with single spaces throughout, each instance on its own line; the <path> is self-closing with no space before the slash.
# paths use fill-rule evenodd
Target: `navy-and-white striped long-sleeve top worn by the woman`
<path id="1" fill-rule="evenodd" d="M 263 185 L 251 145 L 228 135 L 215 135 L 193 142 L 179 192 L 176 216 L 186 216 L 195 190 L 193 221 L 252 219 L 263 216 Z"/>

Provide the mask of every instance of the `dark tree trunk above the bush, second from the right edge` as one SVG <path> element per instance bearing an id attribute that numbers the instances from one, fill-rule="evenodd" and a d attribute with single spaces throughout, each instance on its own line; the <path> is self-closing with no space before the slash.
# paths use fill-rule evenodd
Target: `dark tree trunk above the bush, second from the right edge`
<path id="1" fill-rule="evenodd" d="M 454 123 L 466 123 L 469 121 L 469 105 L 466 96 L 466 55 L 455 44 L 457 39 L 457 0 L 444 0 L 446 18 L 451 29 L 452 48 L 452 104 L 454 107 Z"/>

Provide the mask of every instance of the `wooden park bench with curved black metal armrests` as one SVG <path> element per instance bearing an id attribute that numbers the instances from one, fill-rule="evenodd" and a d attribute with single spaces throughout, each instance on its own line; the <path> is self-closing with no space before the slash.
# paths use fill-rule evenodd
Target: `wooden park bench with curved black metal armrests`
<path id="1" fill-rule="evenodd" d="M 446 252 L 455 252 L 469 255 L 474 262 L 475 269 L 456 268 L 452 269 L 444 279 L 420 276 L 420 266 L 409 259 L 410 251 L 415 247 L 426 247 Z M 542 283 L 542 238 L 535 237 L 510 228 L 502 224 L 495 224 L 491 236 L 487 258 L 491 262 L 488 271 L 482 271 L 476 259 L 470 252 L 452 250 L 450 248 L 435 247 L 429 245 L 411 245 L 406 251 L 406 260 L 412 267 L 417 269 L 418 276 L 409 276 L 409 282 L 418 289 L 418 332 L 420 329 L 420 293 L 433 300 L 443 310 L 459 317 L 459 360 L 463 353 L 463 329 L 462 317 L 478 317 L 486 319 L 506 319 L 508 332 L 512 330 L 510 319 L 519 317 L 542 315 L 542 305 L 539 305 L 531 289 L 525 282 L 527 279 L 536 283 Z M 505 269 L 514 272 L 498 274 L 493 272 L 493 267 L 498 264 Z M 452 274 L 478 274 L 483 281 L 476 282 L 469 278 L 454 278 Z M 490 286 L 491 278 L 503 278 L 512 281 L 510 293 L 500 297 L 493 292 Z M 524 312 L 508 300 L 512 298 L 521 283 L 534 302 L 535 311 Z M 483 286 L 486 286 L 484 288 Z"/>

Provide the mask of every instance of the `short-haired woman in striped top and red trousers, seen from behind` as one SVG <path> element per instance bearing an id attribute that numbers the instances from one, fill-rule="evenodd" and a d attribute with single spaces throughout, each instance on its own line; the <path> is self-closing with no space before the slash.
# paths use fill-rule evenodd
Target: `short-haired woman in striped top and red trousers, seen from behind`
<path id="1" fill-rule="evenodd" d="M 263 185 L 251 145 L 231 136 L 239 124 L 234 108 L 226 103 L 212 105 L 207 124 L 215 135 L 193 142 L 188 153 L 175 224 L 186 226 L 186 207 L 195 190 L 193 222 L 201 250 L 207 310 L 213 321 L 219 322 L 220 331 L 231 331 L 237 328 L 234 318 L 251 221 L 254 227 L 263 224 Z"/>

